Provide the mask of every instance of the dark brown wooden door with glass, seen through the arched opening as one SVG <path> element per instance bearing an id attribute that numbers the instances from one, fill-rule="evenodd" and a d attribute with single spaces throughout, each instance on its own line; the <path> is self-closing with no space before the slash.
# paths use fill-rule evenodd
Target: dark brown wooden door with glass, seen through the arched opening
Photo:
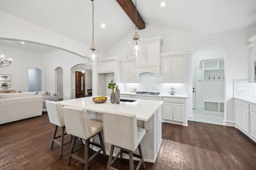
<path id="1" fill-rule="evenodd" d="M 85 96 L 85 74 L 76 71 L 76 98 Z"/>

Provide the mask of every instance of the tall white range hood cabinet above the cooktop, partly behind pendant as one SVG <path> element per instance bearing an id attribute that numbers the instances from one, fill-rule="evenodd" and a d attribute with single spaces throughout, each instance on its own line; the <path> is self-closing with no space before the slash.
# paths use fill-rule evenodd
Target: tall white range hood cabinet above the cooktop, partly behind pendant
<path id="1" fill-rule="evenodd" d="M 160 53 L 163 40 L 161 36 L 144 39 L 147 48 L 147 59 L 137 61 L 135 64 L 135 74 L 142 72 L 152 72 L 159 74 Z"/>

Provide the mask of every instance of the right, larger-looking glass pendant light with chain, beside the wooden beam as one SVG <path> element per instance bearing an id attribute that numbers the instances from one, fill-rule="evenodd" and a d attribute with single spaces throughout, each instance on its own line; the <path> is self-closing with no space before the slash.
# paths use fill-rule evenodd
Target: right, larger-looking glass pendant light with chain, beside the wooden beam
<path id="1" fill-rule="evenodd" d="M 127 43 L 127 60 L 141 61 L 146 60 L 146 44 L 137 31 L 137 0 L 135 0 L 135 31 L 132 39 Z"/>

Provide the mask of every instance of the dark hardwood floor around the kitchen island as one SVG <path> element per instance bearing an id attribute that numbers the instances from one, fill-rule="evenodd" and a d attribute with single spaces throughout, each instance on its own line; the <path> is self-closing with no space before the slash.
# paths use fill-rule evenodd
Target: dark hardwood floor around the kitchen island
<path id="1" fill-rule="evenodd" d="M 64 146 L 63 156 L 59 156 L 58 145 L 50 148 L 53 131 L 47 112 L 0 125 L 0 170 L 84 169 L 84 164 L 74 158 L 67 165 L 70 143 Z M 234 127 L 195 121 L 189 121 L 188 127 L 162 123 L 162 139 L 156 163 L 145 162 L 146 170 L 256 169 L 256 144 Z M 84 155 L 84 150 L 78 154 Z M 100 154 L 89 163 L 89 169 L 104 170 L 107 162 L 108 156 Z M 128 170 L 129 162 L 118 159 L 113 166 Z"/>

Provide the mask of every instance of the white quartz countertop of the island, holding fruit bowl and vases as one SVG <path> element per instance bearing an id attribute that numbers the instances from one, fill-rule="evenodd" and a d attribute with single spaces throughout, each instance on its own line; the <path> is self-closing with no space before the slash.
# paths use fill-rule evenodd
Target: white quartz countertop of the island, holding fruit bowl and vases
<path id="1" fill-rule="evenodd" d="M 110 97 L 106 96 L 108 100 L 104 103 L 94 103 L 92 98 L 97 96 L 77 98 L 70 100 L 59 101 L 58 103 L 62 106 L 74 106 L 82 107 L 88 111 L 95 111 L 102 113 L 104 110 L 118 111 L 123 113 L 135 114 L 138 120 L 148 121 L 158 107 L 162 107 L 163 101 L 156 100 L 140 100 L 140 99 L 130 99 L 136 100 L 135 102 L 120 102 L 120 104 L 112 104 L 110 102 Z"/>

